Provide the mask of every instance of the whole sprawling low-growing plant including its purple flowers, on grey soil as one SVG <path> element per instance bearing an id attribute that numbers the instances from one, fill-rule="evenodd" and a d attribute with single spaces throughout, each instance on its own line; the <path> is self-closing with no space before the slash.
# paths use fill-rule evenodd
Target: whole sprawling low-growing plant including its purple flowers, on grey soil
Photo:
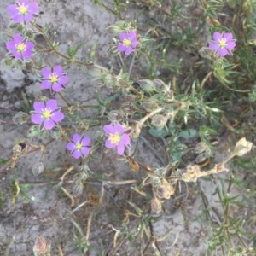
<path id="1" fill-rule="evenodd" d="M 201 218 L 210 233 L 207 251 L 209 255 L 256 253 L 255 234 L 247 230 L 247 222 L 255 223 L 255 188 L 252 180 L 243 180 L 241 175 L 255 176 L 253 154 L 244 155 L 253 151 L 256 1 L 169 2 L 94 1 L 118 19 L 106 27 L 114 38 L 109 42 L 109 55 L 116 58 L 115 67 L 103 67 L 90 55 L 80 57 L 83 42 L 62 51 L 61 42 L 50 33 L 51 24 L 38 25 L 40 4 L 36 1 L 17 0 L 7 8 L 12 21 L 3 32 L 7 50 L 3 63 L 28 70 L 40 81 L 42 95 L 34 96 L 32 102 L 23 97 L 25 107 L 15 114 L 13 123 L 29 127 L 27 136 L 14 141 L 13 154 L 9 160 L 1 160 L 0 172 L 8 170 L 6 175 L 12 176 L 9 193 L 14 205 L 19 196 L 31 200 L 26 191 L 35 184 L 20 183 L 13 169 L 20 158 L 40 152 L 41 160 L 32 173 L 44 177 L 41 185 L 49 185 L 48 196 L 55 189 L 68 200 L 70 209 L 61 218 L 71 219 L 73 244 L 81 255 L 94 250 L 90 232 L 95 216 L 104 214 L 108 189 L 124 189 L 131 197 L 122 202 L 117 218 L 108 217 L 116 225 L 109 226 L 110 245 L 99 241 L 102 255 L 117 255 L 127 241 L 140 255 L 147 255 L 149 248 L 155 255 L 163 255 L 159 242 L 170 230 L 154 236 L 152 223 L 165 214 L 166 201 L 177 196 L 181 183 L 189 189 L 190 183 L 222 172 L 226 175 L 215 190 L 222 216 L 216 218 L 207 195 L 197 188 L 204 206 Z M 188 15 L 188 8 L 194 5 L 199 16 Z M 134 19 L 125 20 L 125 12 L 131 8 Z M 139 15 L 147 25 L 139 21 Z M 44 45 L 38 43 L 38 37 L 44 38 Z M 170 58 L 172 49 L 180 53 L 178 58 Z M 49 54 L 58 57 L 51 67 L 45 64 Z M 69 67 L 90 75 L 97 88 L 94 104 L 73 102 L 68 95 Z M 229 148 L 234 149 L 226 150 L 219 159 L 214 152 L 219 144 L 230 141 L 228 137 Z M 137 153 L 141 142 L 147 143 L 160 164 L 150 165 L 147 158 L 141 158 Z M 68 164 L 48 170 L 44 161 L 54 143 L 61 143 L 58 150 Z M 129 166 L 131 175 L 127 177 L 133 178 L 115 180 L 120 170 L 105 175 L 103 163 L 108 154 L 113 161 Z M 186 159 L 191 155 L 195 159 Z M 93 163 L 102 165 L 102 171 Z M 231 193 L 232 187 L 237 195 Z M 88 195 L 81 202 L 84 193 Z M 2 211 L 4 201 L 1 192 Z M 84 219 L 73 217 L 82 207 L 87 209 Z M 235 214 L 232 207 L 241 212 L 246 208 L 250 217 Z M 85 232 L 81 223 L 86 224 Z M 108 234 L 99 237 L 106 239 Z M 50 250 L 50 242 L 38 234 L 34 255 L 50 255 Z M 61 246 L 58 252 L 65 254 Z"/>

